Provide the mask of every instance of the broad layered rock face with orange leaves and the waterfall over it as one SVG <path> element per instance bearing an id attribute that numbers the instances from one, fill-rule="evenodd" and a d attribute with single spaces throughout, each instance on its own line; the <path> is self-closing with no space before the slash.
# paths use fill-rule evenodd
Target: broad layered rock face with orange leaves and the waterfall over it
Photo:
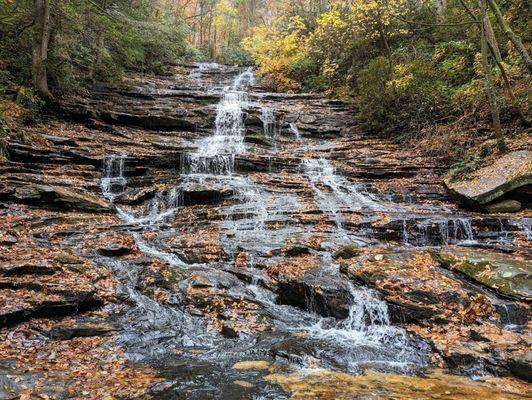
<path id="1" fill-rule="evenodd" d="M 441 160 L 353 115 L 219 65 L 65 99 L 0 167 L 2 334 L 107 335 L 154 398 L 287 398 L 266 375 L 301 368 L 529 380 L 530 218 L 458 209 Z"/>

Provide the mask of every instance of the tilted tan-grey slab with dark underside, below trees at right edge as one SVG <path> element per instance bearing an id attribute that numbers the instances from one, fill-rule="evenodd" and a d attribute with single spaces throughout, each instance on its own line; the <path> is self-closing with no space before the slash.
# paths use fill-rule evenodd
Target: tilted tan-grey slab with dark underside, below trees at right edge
<path id="1" fill-rule="evenodd" d="M 520 150 L 473 172 L 463 180 L 445 180 L 449 191 L 468 205 L 484 205 L 532 184 L 532 151 Z"/>

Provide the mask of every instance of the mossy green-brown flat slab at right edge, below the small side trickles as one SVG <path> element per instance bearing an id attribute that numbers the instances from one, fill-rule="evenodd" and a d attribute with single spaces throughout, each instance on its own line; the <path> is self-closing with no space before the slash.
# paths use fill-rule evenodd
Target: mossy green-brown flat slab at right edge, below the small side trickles
<path id="1" fill-rule="evenodd" d="M 434 253 L 443 266 L 519 300 L 532 300 L 532 262 L 515 254 L 447 247 Z"/>

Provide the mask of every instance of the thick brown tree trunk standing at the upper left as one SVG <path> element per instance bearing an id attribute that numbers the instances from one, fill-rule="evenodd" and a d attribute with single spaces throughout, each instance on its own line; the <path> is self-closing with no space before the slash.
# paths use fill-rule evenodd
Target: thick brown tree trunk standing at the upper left
<path id="1" fill-rule="evenodd" d="M 46 75 L 48 58 L 48 42 L 50 40 L 50 0 L 35 0 L 35 34 L 33 41 L 33 86 L 45 100 L 51 100 Z"/>

